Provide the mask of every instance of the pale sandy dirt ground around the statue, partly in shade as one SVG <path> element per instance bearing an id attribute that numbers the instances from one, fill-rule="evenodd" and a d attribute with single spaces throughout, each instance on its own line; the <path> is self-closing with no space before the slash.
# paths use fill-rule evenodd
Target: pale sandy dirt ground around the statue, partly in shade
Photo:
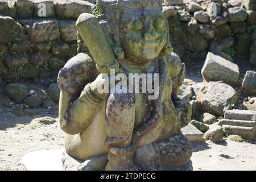
<path id="1" fill-rule="evenodd" d="M 249 65 L 243 64 L 242 75 L 249 70 Z M 203 81 L 200 70 L 202 61 L 187 64 L 187 78 Z M 35 85 L 35 86 L 44 86 Z M 50 106 L 50 108 L 49 108 Z M 24 170 L 20 159 L 27 152 L 63 148 L 64 133 L 59 123 L 41 125 L 31 128 L 34 118 L 49 116 L 57 118 L 57 104 L 48 101 L 40 109 L 27 109 L 24 105 L 14 104 L 3 94 L 0 85 L 0 170 Z M 23 110 L 26 114 L 19 114 Z M 14 114 L 16 113 L 16 115 Z M 193 143 L 192 163 L 195 170 L 256 170 L 256 142 L 212 142 Z"/>

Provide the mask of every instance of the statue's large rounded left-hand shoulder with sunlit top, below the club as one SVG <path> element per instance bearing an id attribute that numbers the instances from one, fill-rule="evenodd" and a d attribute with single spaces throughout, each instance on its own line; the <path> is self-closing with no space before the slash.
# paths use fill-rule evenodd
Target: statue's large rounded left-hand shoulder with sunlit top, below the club
<path id="1" fill-rule="evenodd" d="M 61 89 L 74 93 L 95 80 L 98 74 L 93 59 L 86 53 L 79 53 L 60 69 L 57 81 Z"/>

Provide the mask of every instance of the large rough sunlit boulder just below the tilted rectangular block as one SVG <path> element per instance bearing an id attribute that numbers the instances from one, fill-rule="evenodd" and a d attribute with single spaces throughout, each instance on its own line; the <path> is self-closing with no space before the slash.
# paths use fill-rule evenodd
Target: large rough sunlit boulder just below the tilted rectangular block
<path id="1" fill-rule="evenodd" d="M 238 94 L 231 86 L 215 82 L 209 86 L 207 93 L 201 99 L 204 110 L 212 114 L 224 115 L 232 109 L 238 100 Z"/>

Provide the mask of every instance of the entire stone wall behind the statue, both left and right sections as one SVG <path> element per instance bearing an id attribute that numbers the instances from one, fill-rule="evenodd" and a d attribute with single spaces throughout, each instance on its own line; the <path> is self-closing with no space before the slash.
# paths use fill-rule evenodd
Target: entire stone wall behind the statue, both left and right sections
<path id="1" fill-rule="evenodd" d="M 217 14 L 212 15 L 213 2 Z M 41 17 L 40 5 L 46 5 Z M 75 22 L 95 0 L 0 0 L 0 78 L 56 76 L 77 53 Z M 208 51 L 256 64 L 256 1 L 164 0 L 174 51 L 182 57 Z M 250 55 L 250 57 L 249 57 Z"/>

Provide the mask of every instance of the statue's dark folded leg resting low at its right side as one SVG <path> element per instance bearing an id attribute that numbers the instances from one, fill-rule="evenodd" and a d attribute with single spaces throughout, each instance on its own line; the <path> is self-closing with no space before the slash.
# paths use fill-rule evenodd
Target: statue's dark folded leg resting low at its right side
<path id="1" fill-rule="evenodd" d="M 174 135 L 156 142 L 160 152 L 162 167 L 184 166 L 192 156 L 192 146 L 183 134 Z"/>

